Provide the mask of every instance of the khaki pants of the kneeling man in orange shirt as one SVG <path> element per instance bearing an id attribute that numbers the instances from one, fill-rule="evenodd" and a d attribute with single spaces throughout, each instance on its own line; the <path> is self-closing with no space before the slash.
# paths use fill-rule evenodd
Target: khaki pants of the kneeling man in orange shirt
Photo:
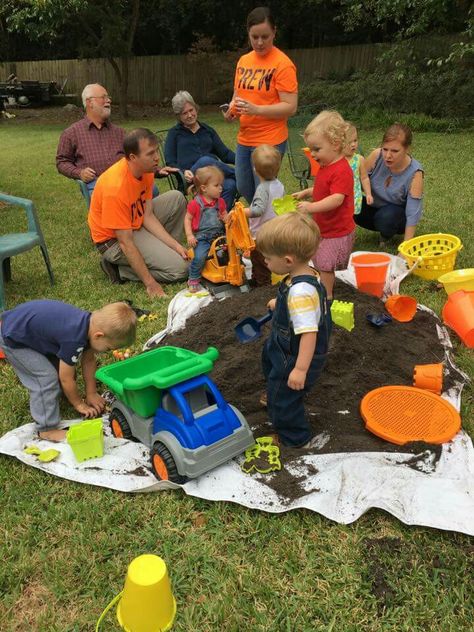
<path id="1" fill-rule="evenodd" d="M 153 213 L 163 228 L 181 242 L 183 222 L 186 213 L 186 199 L 179 191 L 167 191 L 154 198 Z M 188 262 L 177 252 L 169 248 L 146 228 L 133 231 L 133 241 L 140 251 L 148 270 L 159 283 L 173 283 L 187 278 Z M 104 258 L 119 266 L 120 276 L 124 280 L 139 281 L 139 277 L 128 265 L 128 260 L 117 242 L 104 253 Z"/>

